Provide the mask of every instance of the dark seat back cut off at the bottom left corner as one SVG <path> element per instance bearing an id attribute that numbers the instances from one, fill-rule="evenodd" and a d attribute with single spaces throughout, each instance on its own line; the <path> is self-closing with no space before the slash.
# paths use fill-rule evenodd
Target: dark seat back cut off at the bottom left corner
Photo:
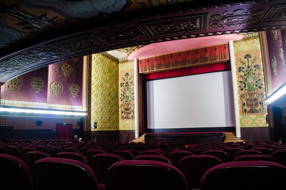
<path id="1" fill-rule="evenodd" d="M 9 154 L 0 154 L 0 184 L 1 189 L 34 189 L 27 164 Z"/>

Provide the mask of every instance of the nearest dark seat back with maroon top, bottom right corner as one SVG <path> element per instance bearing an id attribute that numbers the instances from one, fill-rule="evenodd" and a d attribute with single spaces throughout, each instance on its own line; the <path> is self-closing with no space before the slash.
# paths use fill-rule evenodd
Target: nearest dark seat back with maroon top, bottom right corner
<path id="1" fill-rule="evenodd" d="M 239 182 L 238 179 L 241 179 L 242 176 L 243 180 Z M 200 182 L 200 190 L 281 189 L 285 186 L 285 176 L 286 167 L 279 163 L 268 161 L 229 162 L 219 164 L 206 171 Z"/>

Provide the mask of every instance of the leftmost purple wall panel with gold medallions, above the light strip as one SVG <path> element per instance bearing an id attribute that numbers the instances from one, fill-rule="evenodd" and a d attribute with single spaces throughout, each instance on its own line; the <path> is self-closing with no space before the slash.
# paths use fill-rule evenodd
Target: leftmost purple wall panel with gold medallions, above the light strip
<path id="1" fill-rule="evenodd" d="M 1 86 L 1 105 L 45 108 L 48 68 L 39 68 L 18 76 Z"/>

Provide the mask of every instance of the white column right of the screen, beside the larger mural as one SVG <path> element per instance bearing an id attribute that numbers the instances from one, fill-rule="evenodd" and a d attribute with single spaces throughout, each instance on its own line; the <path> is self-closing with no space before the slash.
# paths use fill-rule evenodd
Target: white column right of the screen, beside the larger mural
<path id="1" fill-rule="evenodd" d="M 232 86 L 233 86 L 233 99 L 234 99 L 234 114 L 235 114 L 235 131 L 236 137 L 240 138 L 240 118 L 239 118 L 239 104 L 238 104 L 238 91 L 237 91 L 237 79 L 236 79 L 236 68 L 234 58 L 233 41 L 229 41 L 229 55 L 231 64 L 231 75 L 232 75 Z"/>

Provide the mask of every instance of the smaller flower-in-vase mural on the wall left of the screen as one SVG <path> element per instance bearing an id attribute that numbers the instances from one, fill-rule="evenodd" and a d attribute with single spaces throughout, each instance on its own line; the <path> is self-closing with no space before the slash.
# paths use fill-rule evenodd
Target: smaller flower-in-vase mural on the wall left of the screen
<path id="1" fill-rule="evenodd" d="M 133 75 L 129 76 L 129 73 L 125 73 L 121 79 L 123 82 L 120 83 L 120 108 L 122 119 L 133 119 L 134 118 L 134 81 L 132 81 Z"/>

